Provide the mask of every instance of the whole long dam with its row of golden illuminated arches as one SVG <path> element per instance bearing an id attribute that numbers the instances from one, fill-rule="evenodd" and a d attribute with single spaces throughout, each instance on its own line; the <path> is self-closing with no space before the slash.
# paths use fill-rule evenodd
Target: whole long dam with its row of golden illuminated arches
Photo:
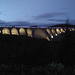
<path id="1" fill-rule="evenodd" d="M 69 31 L 75 31 L 75 28 L 68 28 Z M 50 41 L 55 36 L 65 33 L 65 27 L 49 27 L 49 28 L 23 28 L 23 27 L 0 27 L 0 34 L 6 35 L 24 35 L 34 38 L 47 39 Z"/>

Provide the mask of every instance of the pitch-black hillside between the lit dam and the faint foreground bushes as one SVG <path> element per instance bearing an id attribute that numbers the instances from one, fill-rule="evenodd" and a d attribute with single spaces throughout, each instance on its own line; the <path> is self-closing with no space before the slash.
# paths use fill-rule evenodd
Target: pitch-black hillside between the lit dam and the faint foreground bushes
<path id="1" fill-rule="evenodd" d="M 54 61 L 75 64 L 75 32 L 66 32 L 53 40 L 0 35 L 0 63 L 44 65 Z"/>

